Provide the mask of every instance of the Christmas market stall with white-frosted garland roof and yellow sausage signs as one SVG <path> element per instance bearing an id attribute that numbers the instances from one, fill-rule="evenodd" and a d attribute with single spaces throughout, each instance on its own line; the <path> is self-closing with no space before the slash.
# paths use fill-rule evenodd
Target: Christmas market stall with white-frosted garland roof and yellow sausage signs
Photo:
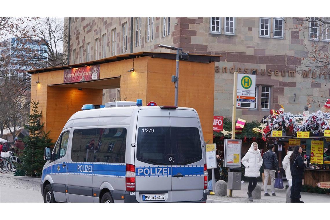
<path id="1" fill-rule="evenodd" d="M 329 112 L 330 99 L 321 110 L 312 113 L 308 107 L 305 107 L 303 114 L 296 115 L 285 112 L 283 107 L 277 111 L 271 110 L 260 131 L 267 144 L 272 142 L 277 145 L 283 158 L 289 146 L 301 146 L 305 159 L 303 184 L 316 187 L 320 191 L 330 188 Z"/>

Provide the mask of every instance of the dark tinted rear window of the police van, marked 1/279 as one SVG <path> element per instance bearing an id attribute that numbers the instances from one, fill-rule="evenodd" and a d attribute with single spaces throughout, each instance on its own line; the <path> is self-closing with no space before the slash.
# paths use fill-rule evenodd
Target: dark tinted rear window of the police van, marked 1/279
<path id="1" fill-rule="evenodd" d="M 169 163 L 169 155 L 175 158 Z M 154 165 L 186 165 L 203 158 L 198 128 L 140 127 L 137 159 Z"/>

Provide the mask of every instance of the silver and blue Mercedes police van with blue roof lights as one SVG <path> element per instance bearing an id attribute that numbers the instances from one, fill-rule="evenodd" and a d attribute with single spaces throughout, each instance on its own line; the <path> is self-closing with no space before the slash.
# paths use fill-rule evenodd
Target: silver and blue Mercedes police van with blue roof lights
<path id="1" fill-rule="evenodd" d="M 196 110 L 142 106 L 142 100 L 97 108 L 72 115 L 52 152 L 45 148 L 45 203 L 206 202 L 205 143 Z"/>

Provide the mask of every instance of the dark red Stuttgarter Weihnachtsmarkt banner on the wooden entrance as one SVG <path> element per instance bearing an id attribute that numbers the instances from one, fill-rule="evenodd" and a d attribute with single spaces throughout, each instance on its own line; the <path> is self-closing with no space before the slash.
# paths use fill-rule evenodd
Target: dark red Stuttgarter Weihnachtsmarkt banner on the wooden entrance
<path id="1" fill-rule="evenodd" d="M 64 83 L 85 82 L 100 79 L 100 65 L 64 70 Z"/>

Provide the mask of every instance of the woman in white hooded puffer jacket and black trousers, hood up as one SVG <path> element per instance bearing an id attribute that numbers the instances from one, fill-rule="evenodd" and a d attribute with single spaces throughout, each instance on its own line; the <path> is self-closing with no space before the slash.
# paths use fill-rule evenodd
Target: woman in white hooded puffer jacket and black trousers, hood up
<path id="1" fill-rule="evenodd" d="M 262 157 L 258 149 L 257 142 L 253 142 L 248 152 L 242 158 L 242 164 L 245 166 L 245 176 L 248 177 L 248 201 L 252 200 L 252 191 L 257 185 L 257 177 L 260 176 L 260 167 L 262 166 Z"/>

